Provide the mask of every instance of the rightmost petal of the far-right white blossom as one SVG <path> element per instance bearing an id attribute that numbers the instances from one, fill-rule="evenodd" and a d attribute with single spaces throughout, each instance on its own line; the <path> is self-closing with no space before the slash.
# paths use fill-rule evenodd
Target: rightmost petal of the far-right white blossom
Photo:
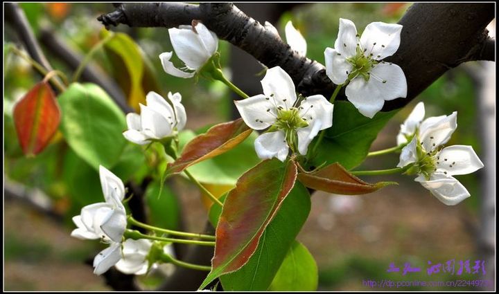
<path id="1" fill-rule="evenodd" d="M 438 156 L 437 168 L 439 172 L 445 171 L 450 176 L 471 174 L 484 167 L 471 146 L 453 145 L 446 147 L 440 151 Z"/>

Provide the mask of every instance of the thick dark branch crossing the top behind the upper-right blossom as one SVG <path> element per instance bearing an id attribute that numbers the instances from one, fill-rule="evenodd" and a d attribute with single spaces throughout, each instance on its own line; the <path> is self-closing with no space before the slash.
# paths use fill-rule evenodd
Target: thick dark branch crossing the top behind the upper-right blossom
<path id="1" fill-rule="evenodd" d="M 485 27 L 494 17 L 493 3 L 416 3 L 399 21 L 401 46 L 387 61 L 401 66 L 408 98 L 385 103 L 384 111 L 408 104 L 448 68 L 477 59 L 493 59 Z M 266 66 L 281 66 L 304 95 L 329 96 L 334 85 L 319 62 L 300 57 L 278 35 L 232 3 L 124 3 L 98 20 L 106 27 L 171 28 L 200 19 L 220 39 L 253 55 Z M 334 20 L 337 21 L 337 20 Z M 333 46 L 333 44 L 331 44 Z M 344 99 L 344 97 L 342 97 Z"/>

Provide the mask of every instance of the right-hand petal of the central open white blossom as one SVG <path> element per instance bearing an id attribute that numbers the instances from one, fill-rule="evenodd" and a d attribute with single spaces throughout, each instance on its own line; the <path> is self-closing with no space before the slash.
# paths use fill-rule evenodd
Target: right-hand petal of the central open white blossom
<path id="1" fill-rule="evenodd" d="M 315 120 L 319 120 L 321 122 L 319 130 L 327 129 L 333 125 L 333 107 L 323 95 L 312 95 L 301 102 L 298 115 L 312 124 L 315 124 Z"/>

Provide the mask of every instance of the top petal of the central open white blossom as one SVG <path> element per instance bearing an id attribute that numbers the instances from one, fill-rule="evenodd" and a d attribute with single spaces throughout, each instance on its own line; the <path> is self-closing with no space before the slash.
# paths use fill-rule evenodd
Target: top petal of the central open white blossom
<path id="1" fill-rule="evenodd" d="M 280 66 L 269 68 L 261 80 L 263 93 L 270 97 L 273 95 L 277 106 L 290 109 L 297 99 L 295 84 L 291 77 Z"/>

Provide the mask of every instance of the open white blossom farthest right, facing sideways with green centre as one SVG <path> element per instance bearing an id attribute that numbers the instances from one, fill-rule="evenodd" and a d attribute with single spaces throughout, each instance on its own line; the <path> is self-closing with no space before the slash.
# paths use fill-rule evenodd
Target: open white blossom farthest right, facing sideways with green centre
<path id="1" fill-rule="evenodd" d="M 457 113 L 436 117 L 421 123 L 419 136 L 403 147 L 398 167 L 414 163 L 417 181 L 446 205 L 456 205 L 470 196 L 453 176 L 471 174 L 484 167 L 471 146 L 453 145 L 440 148 L 457 127 Z"/>

